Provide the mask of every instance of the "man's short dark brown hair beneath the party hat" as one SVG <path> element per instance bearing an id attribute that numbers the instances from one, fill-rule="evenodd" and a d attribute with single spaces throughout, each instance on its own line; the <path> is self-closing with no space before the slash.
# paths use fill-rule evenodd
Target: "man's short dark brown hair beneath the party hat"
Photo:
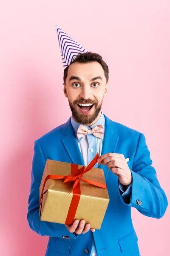
<path id="1" fill-rule="evenodd" d="M 79 52 L 79 54 L 76 56 L 74 61 L 71 62 L 71 64 L 75 61 L 77 61 L 79 63 L 87 63 L 87 62 L 92 62 L 92 61 L 99 62 L 99 64 L 102 66 L 102 68 L 104 70 L 106 81 L 108 82 L 108 79 L 109 79 L 108 65 L 105 63 L 105 61 L 103 61 L 101 55 L 99 55 L 97 53 L 94 53 L 94 52 L 84 52 L 84 53 Z M 70 65 L 68 65 L 68 67 L 66 67 L 65 70 L 64 70 L 64 76 L 63 76 L 64 82 L 67 78 L 68 68 L 70 67 Z"/>

